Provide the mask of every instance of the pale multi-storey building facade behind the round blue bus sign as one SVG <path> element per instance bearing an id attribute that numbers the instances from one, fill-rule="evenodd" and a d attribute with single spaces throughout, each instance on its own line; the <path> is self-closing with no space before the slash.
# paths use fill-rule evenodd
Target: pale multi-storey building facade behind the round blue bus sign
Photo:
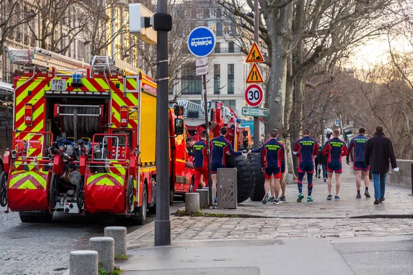
<path id="1" fill-rule="evenodd" d="M 217 3 L 205 0 L 187 1 L 175 5 L 173 14 L 182 14 L 184 9 L 185 28 L 182 39 L 171 43 L 182 43 L 182 52 L 189 54 L 187 37 L 195 27 L 206 26 L 215 32 L 216 46 L 209 58 L 207 74 L 207 95 L 209 101 L 220 101 L 241 113 L 244 106 L 245 80 L 250 66 L 237 43 L 237 30 L 231 14 Z M 203 101 L 202 78 L 195 76 L 195 57 L 188 58 L 180 66 L 180 81 L 171 89 L 170 100 Z"/>

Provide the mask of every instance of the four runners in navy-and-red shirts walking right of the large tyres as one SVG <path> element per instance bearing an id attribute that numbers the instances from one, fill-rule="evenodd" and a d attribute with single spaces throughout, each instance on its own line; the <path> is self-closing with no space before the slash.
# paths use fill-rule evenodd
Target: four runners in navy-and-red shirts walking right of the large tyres
<path id="1" fill-rule="evenodd" d="M 339 190 L 341 186 L 341 173 L 343 172 L 341 157 L 347 157 L 347 164 L 350 165 L 350 153 L 354 149 L 354 170 L 356 170 L 356 186 L 357 186 L 357 199 L 361 199 L 361 173 L 364 174 L 364 183 L 366 190 L 364 195 L 370 197 L 368 192 L 369 186 L 369 166 L 364 161 L 364 151 L 368 138 L 365 137 L 366 129 L 359 129 L 359 135 L 354 137 L 349 148 L 346 143 L 339 139 L 340 131 L 335 129 L 332 131 L 332 138 L 324 144 L 322 148 L 319 148 L 320 142 L 310 137 L 310 130 L 304 129 L 303 137 L 295 143 L 293 148 L 293 154 L 299 159 L 297 167 L 297 187 L 298 196 L 297 202 L 301 202 L 304 199 L 303 193 L 303 179 L 307 175 L 308 181 L 308 195 L 307 201 L 314 201 L 311 197 L 313 192 L 313 174 L 316 168 L 316 175 L 320 178 L 321 171 L 319 170 L 319 164 L 316 167 L 314 165 L 315 157 L 325 156 L 326 159 L 326 174 L 324 175 L 324 181 L 327 181 L 328 195 L 327 200 L 332 200 L 332 175 L 335 174 L 336 188 L 334 199 L 340 200 Z M 278 131 L 273 130 L 270 133 L 270 139 L 264 142 L 264 144 L 255 150 L 250 150 L 248 153 L 261 153 L 262 157 L 262 170 L 265 175 L 264 184 L 264 199 L 262 203 L 268 201 L 274 201 L 275 204 L 283 203 L 285 201 L 285 149 L 284 144 L 278 137 Z M 326 178 L 327 177 L 327 178 Z M 282 196 L 279 197 L 280 184 L 283 188 Z M 270 195 L 271 191 L 271 195 Z"/>

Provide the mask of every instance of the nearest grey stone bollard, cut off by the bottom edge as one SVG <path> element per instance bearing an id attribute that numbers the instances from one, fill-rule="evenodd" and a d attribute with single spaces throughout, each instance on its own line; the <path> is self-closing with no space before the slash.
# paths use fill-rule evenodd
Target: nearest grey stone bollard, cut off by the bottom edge
<path id="1" fill-rule="evenodd" d="M 70 252 L 70 275 L 98 275 L 98 252 L 77 250 Z"/>

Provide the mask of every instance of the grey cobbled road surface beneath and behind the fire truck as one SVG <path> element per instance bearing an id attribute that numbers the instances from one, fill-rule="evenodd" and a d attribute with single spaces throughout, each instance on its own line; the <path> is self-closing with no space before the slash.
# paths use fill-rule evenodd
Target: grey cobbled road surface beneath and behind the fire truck
<path id="1" fill-rule="evenodd" d="M 176 212 L 183 206 L 171 207 Z M 182 199 L 181 199 L 182 200 Z M 0 275 L 63 274 L 69 268 L 69 253 L 89 248 L 89 238 L 103 236 L 114 217 L 54 214 L 52 223 L 21 223 L 18 212 L 4 213 L 0 207 Z M 155 219 L 148 214 L 147 222 Z M 127 226 L 127 232 L 140 226 Z"/>

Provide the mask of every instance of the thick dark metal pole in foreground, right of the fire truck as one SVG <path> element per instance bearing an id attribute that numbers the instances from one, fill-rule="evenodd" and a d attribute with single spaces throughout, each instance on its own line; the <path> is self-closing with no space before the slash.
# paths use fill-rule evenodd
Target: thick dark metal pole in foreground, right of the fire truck
<path id="1" fill-rule="evenodd" d="M 159 13 L 167 14 L 167 0 L 158 0 Z M 168 131 L 168 32 L 157 31 L 156 78 L 156 220 L 155 245 L 171 245 L 171 221 L 169 221 L 169 131 Z"/>

